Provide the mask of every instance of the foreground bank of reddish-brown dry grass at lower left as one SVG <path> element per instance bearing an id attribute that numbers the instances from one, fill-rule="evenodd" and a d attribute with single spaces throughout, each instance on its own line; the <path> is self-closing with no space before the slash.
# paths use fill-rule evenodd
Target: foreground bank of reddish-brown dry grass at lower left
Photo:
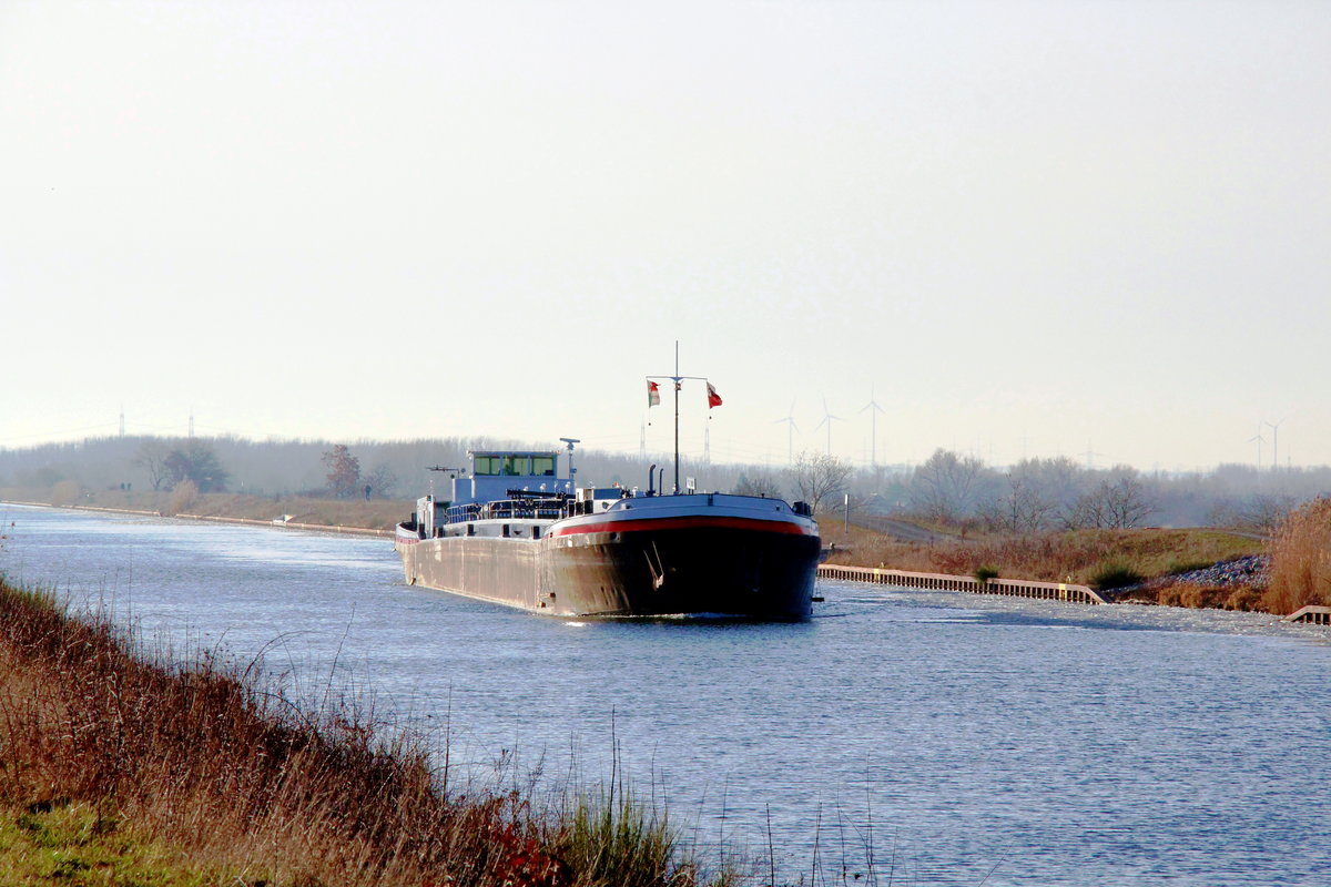
<path id="1" fill-rule="evenodd" d="M 666 815 L 622 786 L 446 789 L 426 742 L 373 714 L 302 710 L 254 664 L 141 649 L 0 581 L 5 883 L 695 882 Z"/>

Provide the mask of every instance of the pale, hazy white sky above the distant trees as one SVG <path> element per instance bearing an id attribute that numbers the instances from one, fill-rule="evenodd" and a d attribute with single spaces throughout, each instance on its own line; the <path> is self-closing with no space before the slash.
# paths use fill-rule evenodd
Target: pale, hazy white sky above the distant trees
<path id="1" fill-rule="evenodd" d="M 1328 133 L 1324 0 L 0 0 L 0 447 L 1331 463 Z"/>

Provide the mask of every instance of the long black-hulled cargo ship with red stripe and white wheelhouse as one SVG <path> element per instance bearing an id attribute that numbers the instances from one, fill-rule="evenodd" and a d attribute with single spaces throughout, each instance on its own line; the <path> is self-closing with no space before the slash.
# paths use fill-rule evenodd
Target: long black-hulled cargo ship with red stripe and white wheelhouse
<path id="1" fill-rule="evenodd" d="M 449 496 L 397 527 L 409 584 L 560 617 L 811 614 L 821 541 L 805 503 L 667 493 L 655 465 L 646 491 L 579 487 L 571 464 L 559 477 L 559 451 L 467 456 L 435 467 Z"/>

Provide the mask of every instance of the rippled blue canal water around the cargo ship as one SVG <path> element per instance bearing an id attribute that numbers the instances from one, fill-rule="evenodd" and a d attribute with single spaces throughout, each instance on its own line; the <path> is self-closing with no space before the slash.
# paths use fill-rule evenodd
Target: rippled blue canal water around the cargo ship
<path id="1" fill-rule="evenodd" d="M 1331 884 L 1324 628 L 855 582 L 800 625 L 559 621 L 406 586 L 385 540 L 0 517 L 11 580 L 373 702 L 459 774 L 615 757 L 764 879 Z"/>

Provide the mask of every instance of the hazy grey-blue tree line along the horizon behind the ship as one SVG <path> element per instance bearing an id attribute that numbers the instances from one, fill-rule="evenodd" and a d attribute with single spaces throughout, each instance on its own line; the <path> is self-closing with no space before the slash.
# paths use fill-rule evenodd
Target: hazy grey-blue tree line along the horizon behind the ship
<path id="1" fill-rule="evenodd" d="M 445 438 L 407 442 L 246 440 L 240 438 L 100 438 L 0 448 L 0 487 L 165 491 L 189 481 L 200 492 L 264 496 L 414 499 L 431 489 L 429 465 L 466 465 L 471 449 L 550 449 L 560 444 Z M 559 475 L 567 476 L 567 452 Z M 646 488 L 648 465 L 671 456 L 595 449 L 575 453 L 580 484 Z M 934 524 L 1008 532 L 1141 527 L 1252 527 L 1264 529 L 1299 503 L 1331 491 L 1331 468 L 1209 472 L 1094 469 L 1066 457 L 989 465 L 938 449 L 913 467 L 853 467 L 821 452 L 787 468 L 712 464 L 685 457 L 681 476 L 697 489 L 808 501 L 819 511 L 914 516 Z"/>

